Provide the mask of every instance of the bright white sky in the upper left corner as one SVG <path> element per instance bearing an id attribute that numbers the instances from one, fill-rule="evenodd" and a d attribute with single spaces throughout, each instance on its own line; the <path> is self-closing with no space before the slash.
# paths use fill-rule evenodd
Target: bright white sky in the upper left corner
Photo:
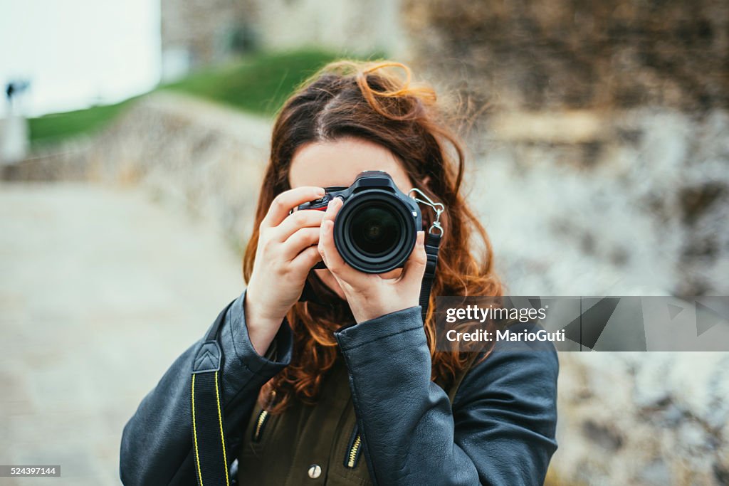
<path id="1" fill-rule="evenodd" d="M 160 0 L 0 0 L 2 98 L 17 78 L 31 82 L 22 100 L 31 116 L 151 89 L 160 79 Z"/>

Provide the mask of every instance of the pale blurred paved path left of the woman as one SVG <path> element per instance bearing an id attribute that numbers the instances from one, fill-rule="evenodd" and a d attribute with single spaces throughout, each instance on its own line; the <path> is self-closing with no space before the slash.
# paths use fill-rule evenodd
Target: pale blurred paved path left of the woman
<path id="1" fill-rule="evenodd" d="M 237 256 L 140 189 L 0 184 L 0 464 L 117 485 L 122 427 L 240 294 Z"/>

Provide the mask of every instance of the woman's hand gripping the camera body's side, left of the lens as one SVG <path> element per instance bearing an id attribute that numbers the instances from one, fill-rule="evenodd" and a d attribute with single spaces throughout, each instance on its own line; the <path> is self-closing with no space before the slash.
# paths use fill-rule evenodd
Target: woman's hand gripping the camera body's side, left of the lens
<path id="1" fill-rule="evenodd" d="M 249 338 L 260 356 L 301 296 L 309 270 L 321 260 L 316 245 L 324 211 L 289 211 L 322 196 L 324 189 L 311 186 L 281 192 L 259 226 L 245 309 Z"/>

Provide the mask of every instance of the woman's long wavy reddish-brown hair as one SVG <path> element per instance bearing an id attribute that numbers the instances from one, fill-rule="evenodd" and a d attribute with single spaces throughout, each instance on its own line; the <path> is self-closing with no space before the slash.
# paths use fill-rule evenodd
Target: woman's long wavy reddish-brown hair
<path id="1" fill-rule="evenodd" d="M 405 79 L 396 69 L 405 72 Z M 356 137 L 395 154 L 413 187 L 445 204 L 445 230 L 424 328 L 432 357 L 432 378 L 448 383 L 466 366 L 467 353 L 435 350 L 433 299 L 437 295 L 502 295 L 494 273 L 491 243 L 461 194 L 464 149 L 448 127 L 447 112 L 429 85 L 411 81 L 402 63 L 343 60 L 308 79 L 284 103 L 273 125 L 270 160 L 262 183 L 254 231 L 243 257 L 249 280 L 258 227 L 273 198 L 290 189 L 289 167 L 296 150 L 315 141 Z M 424 228 L 432 215 L 424 213 Z M 346 302 L 327 289 L 315 273 L 308 282 L 328 305 L 298 302 L 287 315 L 294 333 L 292 362 L 266 383 L 260 403 L 281 412 L 292 399 L 314 403 L 321 382 L 338 357 L 334 332 L 351 320 Z M 275 399 L 273 399 L 275 397 Z"/>

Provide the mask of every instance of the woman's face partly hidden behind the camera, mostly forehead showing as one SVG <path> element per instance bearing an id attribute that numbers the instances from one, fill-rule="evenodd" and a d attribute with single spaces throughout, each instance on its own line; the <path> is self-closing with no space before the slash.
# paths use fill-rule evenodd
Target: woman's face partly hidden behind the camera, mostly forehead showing
<path id="1" fill-rule="evenodd" d="M 362 138 L 340 138 L 300 146 L 289 168 L 289 184 L 300 186 L 348 187 L 364 171 L 389 173 L 398 189 L 406 194 L 413 187 L 408 173 L 397 157 L 384 146 Z M 322 282 L 344 299 L 334 275 L 326 269 L 314 270 Z M 402 269 L 383 273 L 383 278 L 397 278 Z"/>

